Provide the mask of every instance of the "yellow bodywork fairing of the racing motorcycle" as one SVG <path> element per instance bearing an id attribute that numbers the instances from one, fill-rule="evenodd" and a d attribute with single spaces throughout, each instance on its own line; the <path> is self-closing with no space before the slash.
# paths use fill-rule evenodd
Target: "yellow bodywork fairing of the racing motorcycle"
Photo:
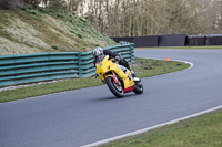
<path id="1" fill-rule="evenodd" d="M 97 71 L 95 71 L 97 74 L 100 75 L 101 80 L 104 83 L 105 83 L 105 78 L 110 76 L 110 75 L 105 75 L 104 77 L 104 74 L 109 71 L 114 71 L 114 73 L 118 74 L 123 80 L 124 88 L 128 88 L 134 85 L 131 72 L 127 70 L 127 72 L 124 73 L 119 64 L 113 63 L 111 60 L 109 60 L 109 55 L 105 55 L 104 60 L 101 63 L 97 63 L 95 66 L 97 66 Z M 129 78 L 129 76 L 131 80 Z"/>

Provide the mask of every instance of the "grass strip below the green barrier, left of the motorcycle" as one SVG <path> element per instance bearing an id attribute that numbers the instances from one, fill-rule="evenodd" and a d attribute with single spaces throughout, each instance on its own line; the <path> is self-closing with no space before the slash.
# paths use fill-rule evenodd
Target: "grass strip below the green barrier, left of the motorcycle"
<path id="1" fill-rule="evenodd" d="M 72 78 L 68 81 L 50 83 L 46 85 L 37 85 L 22 87 L 10 91 L 0 92 L 0 103 L 10 102 L 16 99 L 23 99 L 33 96 L 52 94 L 58 92 L 79 90 L 90 86 L 101 85 L 102 83 L 97 78 Z"/>

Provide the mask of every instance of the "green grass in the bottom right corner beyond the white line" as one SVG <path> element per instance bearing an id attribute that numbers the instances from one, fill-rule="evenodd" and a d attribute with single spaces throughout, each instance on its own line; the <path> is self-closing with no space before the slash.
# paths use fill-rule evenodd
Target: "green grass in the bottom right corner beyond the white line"
<path id="1" fill-rule="evenodd" d="M 222 109 L 100 147 L 222 147 Z"/>

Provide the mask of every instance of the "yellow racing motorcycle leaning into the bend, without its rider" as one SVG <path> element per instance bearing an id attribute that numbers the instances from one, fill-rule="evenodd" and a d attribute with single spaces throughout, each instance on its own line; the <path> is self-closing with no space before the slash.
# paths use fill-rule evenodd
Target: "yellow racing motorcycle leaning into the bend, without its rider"
<path id="1" fill-rule="evenodd" d="M 102 82 L 108 85 L 109 90 L 119 98 L 124 96 L 124 93 L 134 92 L 135 94 L 143 93 L 143 85 L 139 77 L 132 77 L 130 70 L 118 64 L 114 59 L 109 59 L 109 55 L 100 55 L 95 63 L 97 76 L 100 76 Z"/>

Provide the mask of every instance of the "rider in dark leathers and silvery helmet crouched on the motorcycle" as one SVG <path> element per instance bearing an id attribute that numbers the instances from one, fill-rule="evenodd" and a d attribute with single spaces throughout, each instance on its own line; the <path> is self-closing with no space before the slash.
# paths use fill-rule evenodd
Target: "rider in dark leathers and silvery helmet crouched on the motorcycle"
<path id="1" fill-rule="evenodd" d="M 94 49 L 92 50 L 92 54 L 93 54 L 93 56 L 94 56 L 94 62 L 93 62 L 94 65 L 95 65 L 95 63 L 97 63 L 97 57 L 98 57 L 99 55 L 109 55 L 111 59 L 115 59 L 115 61 L 119 61 L 119 64 L 120 64 L 120 65 L 123 65 L 124 67 L 129 69 L 129 70 L 131 71 L 131 74 L 132 74 L 133 77 L 137 76 L 135 73 L 131 70 L 129 62 L 128 62 L 125 59 L 121 57 L 120 54 L 114 53 L 114 52 L 112 52 L 112 51 L 110 51 L 110 50 L 103 50 L 103 49 L 100 48 L 100 46 L 94 48 Z"/>

